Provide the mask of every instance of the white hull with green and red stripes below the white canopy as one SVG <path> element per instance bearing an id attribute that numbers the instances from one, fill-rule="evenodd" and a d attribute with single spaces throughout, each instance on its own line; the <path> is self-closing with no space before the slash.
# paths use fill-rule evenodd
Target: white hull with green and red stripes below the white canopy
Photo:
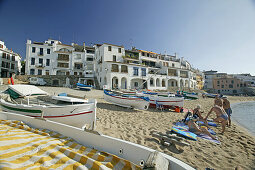
<path id="1" fill-rule="evenodd" d="M 90 129 L 94 129 L 96 125 L 96 100 L 91 100 L 85 104 L 44 106 L 13 104 L 1 99 L 0 105 L 2 110 L 6 112 L 45 118 L 78 128 L 89 125 Z"/>

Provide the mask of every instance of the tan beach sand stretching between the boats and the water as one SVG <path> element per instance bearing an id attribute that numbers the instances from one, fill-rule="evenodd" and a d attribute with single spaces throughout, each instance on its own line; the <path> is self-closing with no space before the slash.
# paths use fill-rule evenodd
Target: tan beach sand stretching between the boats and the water
<path id="1" fill-rule="evenodd" d="M 0 90 L 5 88 L 5 86 L 1 86 Z M 85 92 L 61 87 L 40 88 L 50 94 L 66 92 L 79 96 L 86 95 L 87 98 L 96 98 L 98 101 L 97 131 L 164 152 L 194 168 L 234 169 L 238 165 L 243 169 L 254 169 L 255 167 L 255 137 L 234 122 L 231 127 L 226 127 L 224 135 L 219 134 L 220 126 L 212 127 L 217 133 L 220 145 L 198 138 L 198 141 L 185 139 L 187 143 L 190 143 L 190 146 L 187 147 L 166 147 L 162 146 L 150 133 L 152 131 L 165 133 L 171 130 L 173 123 L 183 119 L 185 113 L 155 109 L 141 111 L 118 107 L 104 101 L 102 90 Z M 230 96 L 229 100 L 231 103 L 236 103 L 255 100 L 255 97 Z M 202 106 L 202 111 L 208 113 L 213 106 L 213 99 L 200 97 L 198 100 L 185 100 L 187 109 L 193 109 L 197 104 Z"/>

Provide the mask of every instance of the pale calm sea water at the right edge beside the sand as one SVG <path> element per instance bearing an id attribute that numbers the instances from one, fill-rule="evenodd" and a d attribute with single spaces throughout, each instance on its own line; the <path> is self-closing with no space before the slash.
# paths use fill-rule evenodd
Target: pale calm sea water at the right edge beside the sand
<path id="1" fill-rule="evenodd" d="M 231 120 L 246 128 L 255 136 L 255 102 L 235 103 L 231 105 Z"/>

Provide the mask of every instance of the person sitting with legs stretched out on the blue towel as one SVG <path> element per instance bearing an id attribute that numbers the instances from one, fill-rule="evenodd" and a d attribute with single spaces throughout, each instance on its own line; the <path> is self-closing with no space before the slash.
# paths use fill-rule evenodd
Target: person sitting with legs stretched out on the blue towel
<path id="1" fill-rule="evenodd" d="M 186 123 L 189 126 L 189 131 L 195 134 L 206 134 L 208 136 L 210 136 L 212 139 L 216 140 L 216 137 L 214 137 L 207 129 L 207 127 L 205 126 L 201 126 L 199 127 L 195 122 L 197 121 L 197 119 L 194 119 L 193 117 L 189 117 L 189 119 L 186 121 Z"/>

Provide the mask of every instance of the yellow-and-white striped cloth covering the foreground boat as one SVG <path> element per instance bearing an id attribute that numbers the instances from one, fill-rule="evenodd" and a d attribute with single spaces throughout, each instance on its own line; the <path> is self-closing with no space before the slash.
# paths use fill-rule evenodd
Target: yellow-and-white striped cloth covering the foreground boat
<path id="1" fill-rule="evenodd" d="M 0 169 L 141 169 L 47 129 L 0 120 Z"/>

